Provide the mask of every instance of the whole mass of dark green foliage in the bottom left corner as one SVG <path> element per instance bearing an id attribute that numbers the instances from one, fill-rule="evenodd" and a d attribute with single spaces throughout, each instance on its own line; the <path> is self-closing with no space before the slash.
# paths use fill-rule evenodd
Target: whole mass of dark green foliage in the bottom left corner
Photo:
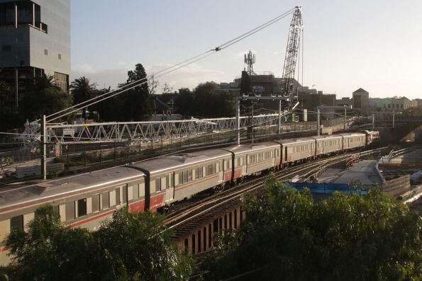
<path id="1" fill-rule="evenodd" d="M 116 211 L 99 231 L 67 228 L 52 206 L 35 212 L 28 231 L 6 238 L 11 263 L 0 268 L 10 280 L 186 280 L 191 260 L 170 241 L 154 213 Z"/>

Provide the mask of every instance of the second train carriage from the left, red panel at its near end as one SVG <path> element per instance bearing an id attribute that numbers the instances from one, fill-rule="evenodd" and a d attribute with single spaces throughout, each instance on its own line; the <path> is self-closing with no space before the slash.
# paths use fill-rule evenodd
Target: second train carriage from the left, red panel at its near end
<path id="1" fill-rule="evenodd" d="M 132 164 L 145 173 L 150 210 L 183 200 L 231 178 L 231 153 L 211 149 L 163 156 Z"/>

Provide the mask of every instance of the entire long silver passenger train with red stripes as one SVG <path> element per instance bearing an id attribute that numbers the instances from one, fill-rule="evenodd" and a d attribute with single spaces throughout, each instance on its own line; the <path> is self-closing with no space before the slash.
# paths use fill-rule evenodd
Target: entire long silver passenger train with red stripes
<path id="1" fill-rule="evenodd" d="M 241 144 L 160 156 L 32 185 L 0 188 L 0 241 L 12 229 L 26 229 L 35 210 L 51 204 L 63 224 L 95 230 L 121 206 L 132 212 L 157 210 L 220 185 L 262 171 L 366 147 L 378 132 L 353 132 Z M 9 260 L 0 244 L 0 264 Z"/>

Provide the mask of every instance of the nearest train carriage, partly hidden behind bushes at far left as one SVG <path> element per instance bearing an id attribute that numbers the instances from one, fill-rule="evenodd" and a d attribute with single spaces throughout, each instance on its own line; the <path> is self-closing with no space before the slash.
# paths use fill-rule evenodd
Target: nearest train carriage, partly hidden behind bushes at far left
<path id="1" fill-rule="evenodd" d="M 51 204 L 65 226 L 91 230 L 109 219 L 116 208 L 143 209 L 144 173 L 128 167 L 84 173 L 31 185 L 0 188 L 0 243 L 11 229 L 26 229 L 41 205 Z M 0 246 L 0 264 L 9 261 Z"/>

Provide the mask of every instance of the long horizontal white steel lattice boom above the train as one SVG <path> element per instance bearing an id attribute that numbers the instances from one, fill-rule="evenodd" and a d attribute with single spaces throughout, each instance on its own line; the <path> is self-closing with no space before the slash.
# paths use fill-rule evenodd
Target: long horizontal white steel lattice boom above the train
<path id="1" fill-rule="evenodd" d="M 240 117 L 240 128 L 278 125 L 278 114 Z M 48 142 L 147 141 L 235 130 L 235 117 L 155 122 L 104 122 L 77 125 L 47 124 Z"/>

